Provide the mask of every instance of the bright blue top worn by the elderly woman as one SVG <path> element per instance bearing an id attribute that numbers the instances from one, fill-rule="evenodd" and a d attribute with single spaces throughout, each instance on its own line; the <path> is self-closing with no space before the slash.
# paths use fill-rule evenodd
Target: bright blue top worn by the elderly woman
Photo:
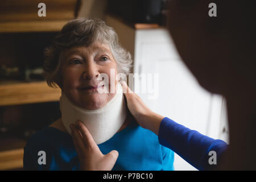
<path id="1" fill-rule="evenodd" d="M 99 144 L 103 154 L 119 153 L 113 170 L 173 170 L 174 152 L 159 144 L 157 135 L 130 123 L 108 141 Z M 46 164 L 42 164 L 46 154 Z M 38 163 L 39 160 L 39 163 Z M 79 159 L 71 135 L 54 127 L 46 127 L 34 134 L 24 147 L 24 169 L 78 170 Z"/>

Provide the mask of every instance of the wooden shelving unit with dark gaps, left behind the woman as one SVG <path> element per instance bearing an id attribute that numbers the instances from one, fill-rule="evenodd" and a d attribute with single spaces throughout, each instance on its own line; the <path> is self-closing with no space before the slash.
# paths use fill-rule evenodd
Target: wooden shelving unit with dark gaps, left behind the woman
<path id="1" fill-rule="evenodd" d="M 15 67 L 22 73 L 27 68 L 42 68 L 44 48 L 51 44 L 53 37 L 65 23 L 77 16 L 80 7 L 80 0 L 45 0 L 46 16 L 39 17 L 40 2 L 42 1 L 1 1 L 0 67 Z M 60 98 L 60 88 L 49 88 L 44 80 L 31 81 L 25 78 L 23 75 L 17 79 L 0 77 L 0 170 L 22 169 L 23 147 L 26 144 L 26 139 L 19 138 L 18 135 L 3 134 L 6 130 L 3 127 L 6 117 L 3 115 L 9 115 L 17 120 L 15 122 L 22 123 L 19 125 L 22 130 L 27 121 L 19 121 L 18 115 L 22 113 L 20 108 L 32 108 L 38 104 L 48 107 L 48 104 L 58 102 Z M 12 107 L 12 111 L 3 113 Z M 25 118 L 32 117 L 27 115 Z"/>

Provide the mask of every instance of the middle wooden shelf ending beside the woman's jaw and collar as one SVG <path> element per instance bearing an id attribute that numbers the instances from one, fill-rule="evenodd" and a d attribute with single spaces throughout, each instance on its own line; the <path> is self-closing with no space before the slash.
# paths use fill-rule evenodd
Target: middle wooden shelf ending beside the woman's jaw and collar
<path id="1" fill-rule="evenodd" d="M 46 81 L 0 84 L 0 106 L 59 101 L 60 88 L 50 88 Z"/>

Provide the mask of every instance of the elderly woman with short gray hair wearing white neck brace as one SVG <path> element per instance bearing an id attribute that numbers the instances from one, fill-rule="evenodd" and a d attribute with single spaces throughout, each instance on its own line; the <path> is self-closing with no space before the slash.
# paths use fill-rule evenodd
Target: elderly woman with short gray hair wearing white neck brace
<path id="1" fill-rule="evenodd" d="M 109 85 L 106 85 L 106 82 L 103 85 L 99 82 L 105 79 L 105 77 L 101 78 L 101 75 L 111 78 L 113 70 L 114 76 L 117 73 L 127 75 L 131 67 L 130 53 L 119 45 L 118 36 L 112 27 L 107 26 L 100 19 L 71 20 L 63 27 L 45 53 L 44 70 L 47 83 L 53 87 L 57 84 L 61 88 L 61 97 L 65 96 L 67 102 L 64 102 L 64 99 L 60 100 L 60 105 L 65 107 L 67 105 L 65 103 L 69 103 L 70 107 L 66 110 L 62 108 L 61 118 L 38 131 L 28 140 L 24 147 L 24 169 L 86 169 L 89 160 L 83 157 L 83 152 L 86 151 L 82 149 L 88 146 L 83 145 L 82 140 L 87 137 L 82 137 L 84 135 L 82 131 L 85 130 L 80 131 L 77 127 L 84 127 L 86 123 L 90 123 L 91 128 L 88 127 L 89 124 L 86 128 L 92 135 L 96 133 L 99 139 L 105 139 L 98 142 L 97 147 L 102 154 L 110 154 L 104 155 L 106 158 L 108 156 L 116 158 L 118 151 L 119 155 L 117 162 L 113 163 L 113 170 L 174 169 L 174 152 L 161 146 L 157 135 L 140 127 L 127 110 L 126 104 L 124 109 L 115 106 L 116 102 L 113 100 L 118 94 L 119 80 L 114 82 L 110 80 Z M 110 92 L 98 92 L 98 88 L 110 88 Z M 119 122 L 122 120 L 120 117 L 115 118 L 117 120 L 115 123 L 121 125 L 116 126 L 117 129 L 112 131 L 114 132 L 112 135 L 108 135 L 110 128 L 115 127 L 111 115 L 103 117 L 104 120 L 97 117 L 94 119 L 94 115 L 97 115 L 94 111 L 101 111 L 105 107 L 108 107 L 108 113 L 113 114 L 127 111 L 122 122 Z M 69 125 L 65 123 L 76 122 L 69 121 L 77 114 L 72 113 L 73 108 L 80 108 L 78 113 L 82 113 L 81 115 L 89 113 L 92 119 L 85 119 L 88 121 L 82 121 L 79 125 L 71 125 L 70 130 L 67 127 Z M 105 128 L 100 129 L 98 122 Z M 104 138 L 105 135 L 102 133 L 108 137 Z M 80 136 L 77 137 L 77 134 Z M 97 136 L 94 136 L 94 139 L 97 139 Z M 100 160 L 104 162 L 104 158 Z"/>

